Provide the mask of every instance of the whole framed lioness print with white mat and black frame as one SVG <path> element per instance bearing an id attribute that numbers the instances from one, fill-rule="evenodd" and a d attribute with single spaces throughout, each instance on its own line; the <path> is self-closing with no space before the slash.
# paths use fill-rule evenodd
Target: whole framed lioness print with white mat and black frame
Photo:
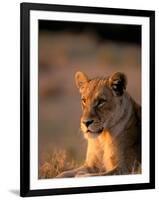
<path id="1" fill-rule="evenodd" d="M 155 12 L 21 4 L 21 196 L 155 188 Z"/>

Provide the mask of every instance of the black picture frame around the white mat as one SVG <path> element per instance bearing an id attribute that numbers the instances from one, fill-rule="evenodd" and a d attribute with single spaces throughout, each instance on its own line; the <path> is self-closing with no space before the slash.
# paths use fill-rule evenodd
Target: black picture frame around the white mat
<path id="1" fill-rule="evenodd" d="M 30 11 L 59 11 L 148 17 L 150 20 L 150 180 L 148 183 L 73 188 L 30 189 Z M 20 82 L 20 195 L 42 196 L 155 188 L 155 11 L 83 6 L 21 3 L 21 82 Z"/>

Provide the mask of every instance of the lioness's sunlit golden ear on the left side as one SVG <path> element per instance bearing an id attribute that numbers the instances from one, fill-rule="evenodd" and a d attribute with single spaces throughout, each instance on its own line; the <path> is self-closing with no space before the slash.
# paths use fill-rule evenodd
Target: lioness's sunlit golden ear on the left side
<path id="1" fill-rule="evenodd" d="M 77 88 L 80 89 L 86 82 L 88 82 L 88 77 L 83 72 L 76 72 L 75 82 L 76 82 Z"/>

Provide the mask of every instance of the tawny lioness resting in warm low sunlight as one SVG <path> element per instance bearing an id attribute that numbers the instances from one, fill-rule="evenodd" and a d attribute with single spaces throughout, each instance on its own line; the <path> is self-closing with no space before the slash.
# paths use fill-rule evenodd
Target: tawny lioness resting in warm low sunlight
<path id="1" fill-rule="evenodd" d="M 141 107 L 126 92 L 127 78 L 117 72 L 107 78 L 75 74 L 83 114 L 81 129 L 88 141 L 84 164 L 57 177 L 139 173 Z"/>

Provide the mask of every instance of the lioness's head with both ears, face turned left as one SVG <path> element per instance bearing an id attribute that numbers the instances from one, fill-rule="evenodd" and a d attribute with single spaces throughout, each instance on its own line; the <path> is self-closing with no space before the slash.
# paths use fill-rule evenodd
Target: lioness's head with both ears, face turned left
<path id="1" fill-rule="evenodd" d="M 97 137 L 117 123 L 127 78 L 117 72 L 110 77 L 89 79 L 77 72 L 75 82 L 81 94 L 81 129 L 86 137 Z"/>

